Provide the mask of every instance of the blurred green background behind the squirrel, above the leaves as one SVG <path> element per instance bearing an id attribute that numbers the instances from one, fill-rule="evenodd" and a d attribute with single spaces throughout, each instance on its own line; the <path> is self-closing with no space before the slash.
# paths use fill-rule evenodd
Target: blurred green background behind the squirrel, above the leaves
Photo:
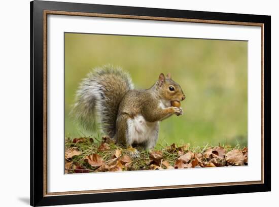
<path id="1" fill-rule="evenodd" d="M 92 68 L 121 66 L 136 88 L 171 73 L 186 95 L 183 116 L 160 124 L 159 144 L 247 146 L 247 51 L 243 41 L 65 33 L 65 136 L 92 134 L 69 116 Z"/>

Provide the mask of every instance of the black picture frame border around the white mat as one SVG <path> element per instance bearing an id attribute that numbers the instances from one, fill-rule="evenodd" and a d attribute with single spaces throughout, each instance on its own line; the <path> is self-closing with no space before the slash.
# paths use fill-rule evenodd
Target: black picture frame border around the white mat
<path id="1" fill-rule="evenodd" d="M 44 11 L 65 11 L 263 24 L 263 183 L 48 196 L 44 189 Z M 271 17 L 125 6 L 30 2 L 30 204 L 32 206 L 171 198 L 271 190 Z"/>

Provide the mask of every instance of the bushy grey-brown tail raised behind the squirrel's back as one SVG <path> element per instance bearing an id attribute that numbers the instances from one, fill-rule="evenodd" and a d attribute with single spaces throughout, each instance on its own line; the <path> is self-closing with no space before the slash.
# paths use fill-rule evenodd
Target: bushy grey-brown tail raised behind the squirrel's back
<path id="1" fill-rule="evenodd" d="M 85 129 L 96 130 L 100 123 L 100 129 L 113 137 L 119 104 L 131 89 L 131 78 L 121 68 L 111 65 L 95 68 L 81 82 L 71 114 Z"/>

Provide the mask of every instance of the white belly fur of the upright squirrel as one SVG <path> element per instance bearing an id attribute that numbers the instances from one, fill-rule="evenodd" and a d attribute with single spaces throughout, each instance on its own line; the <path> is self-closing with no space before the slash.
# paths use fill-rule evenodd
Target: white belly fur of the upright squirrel
<path id="1" fill-rule="evenodd" d="M 158 135 L 158 122 L 148 122 L 142 115 L 128 119 L 127 125 L 127 144 L 130 145 L 146 143 Z"/>

